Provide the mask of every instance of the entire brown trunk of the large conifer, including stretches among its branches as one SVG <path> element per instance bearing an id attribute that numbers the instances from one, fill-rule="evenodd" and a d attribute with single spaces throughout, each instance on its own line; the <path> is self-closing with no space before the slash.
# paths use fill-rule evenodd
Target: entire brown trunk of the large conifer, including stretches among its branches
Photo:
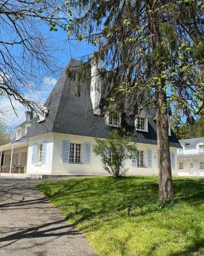
<path id="1" fill-rule="evenodd" d="M 162 35 L 159 30 L 159 12 L 157 12 L 157 1 L 148 0 L 149 24 L 152 33 L 153 52 L 160 49 Z M 154 76 L 161 74 L 163 63 L 159 64 L 157 53 L 152 58 L 152 71 Z M 171 177 L 170 145 L 168 138 L 168 113 L 166 102 L 165 79 L 156 83 L 156 124 L 157 124 L 157 145 L 159 162 L 159 200 L 161 202 L 173 202 L 173 186 Z"/>

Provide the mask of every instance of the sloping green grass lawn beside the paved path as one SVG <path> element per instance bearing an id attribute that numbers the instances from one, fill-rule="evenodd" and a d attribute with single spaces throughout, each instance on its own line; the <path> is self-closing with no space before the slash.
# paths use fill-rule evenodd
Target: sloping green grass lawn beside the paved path
<path id="1" fill-rule="evenodd" d="M 166 206 L 157 200 L 157 177 L 68 179 L 38 188 L 98 255 L 204 255 L 204 179 L 173 179 L 175 204 Z"/>

